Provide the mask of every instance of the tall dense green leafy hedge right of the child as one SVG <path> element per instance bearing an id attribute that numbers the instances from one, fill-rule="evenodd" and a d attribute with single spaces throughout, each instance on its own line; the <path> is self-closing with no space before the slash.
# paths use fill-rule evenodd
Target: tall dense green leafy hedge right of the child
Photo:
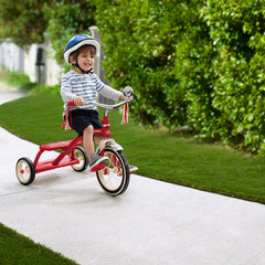
<path id="1" fill-rule="evenodd" d="M 189 126 L 200 138 L 257 152 L 265 135 L 263 3 L 95 1 L 106 78 L 135 87 L 132 112 L 142 124 Z"/>

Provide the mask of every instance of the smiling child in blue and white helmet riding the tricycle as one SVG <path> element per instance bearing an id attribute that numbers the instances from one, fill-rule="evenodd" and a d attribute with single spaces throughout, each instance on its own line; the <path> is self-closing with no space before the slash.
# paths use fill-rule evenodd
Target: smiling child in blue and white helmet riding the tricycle
<path id="1" fill-rule="evenodd" d="M 106 163 L 108 158 L 95 153 L 93 131 L 94 128 L 102 128 L 102 124 L 96 106 L 87 104 L 95 100 L 96 93 L 113 100 L 126 99 L 123 93 L 105 85 L 97 75 L 93 74 L 94 59 L 98 53 L 99 45 L 94 38 L 85 34 L 73 36 L 64 50 L 64 59 L 74 70 L 63 76 L 61 85 L 64 108 L 71 100 L 77 106 L 72 109 L 72 126 L 78 136 L 83 136 L 91 170 L 95 170 L 97 165 Z M 97 145 L 102 139 L 103 136 L 94 136 Z"/>

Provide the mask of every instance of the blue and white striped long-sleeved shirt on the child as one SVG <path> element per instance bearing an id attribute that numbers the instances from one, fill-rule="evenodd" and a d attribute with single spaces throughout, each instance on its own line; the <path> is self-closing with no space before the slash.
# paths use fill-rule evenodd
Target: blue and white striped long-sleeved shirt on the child
<path id="1" fill-rule="evenodd" d="M 78 74 L 71 70 L 62 78 L 61 95 L 64 100 L 64 113 L 67 102 L 75 96 L 84 98 L 84 104 L 89 105 L 96 99 L 96 94 L 102 94 L 113 100 L 118 100 L 121 93 L 104 84 L 96 74 Z M 97 109 L 95 105 L 80 106 L 76 108 Z"/>

